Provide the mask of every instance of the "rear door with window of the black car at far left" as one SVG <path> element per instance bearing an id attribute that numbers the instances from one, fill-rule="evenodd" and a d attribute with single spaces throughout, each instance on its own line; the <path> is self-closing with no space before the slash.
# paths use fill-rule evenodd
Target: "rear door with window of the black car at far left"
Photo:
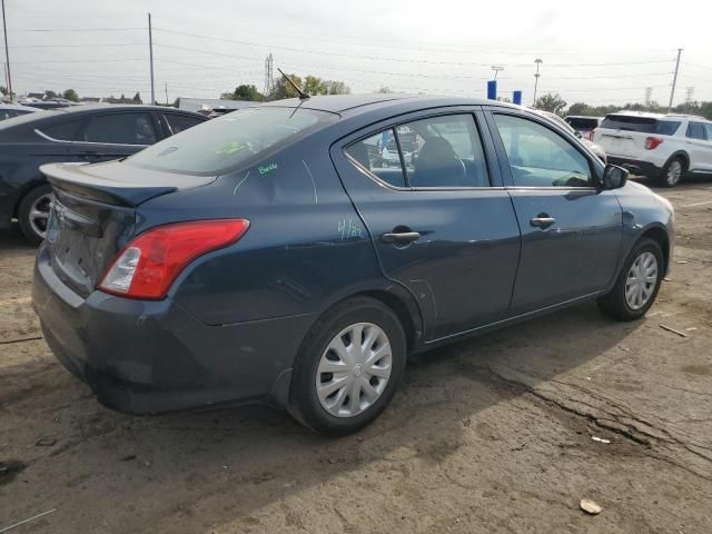
<path id="1" fill-rule="evenodd" d="M 89 162 L 119 159 L 158 141 L 158 132 L 154 113 L 148 111 L 95 115 L 85 122 L 71 150 Z"/>

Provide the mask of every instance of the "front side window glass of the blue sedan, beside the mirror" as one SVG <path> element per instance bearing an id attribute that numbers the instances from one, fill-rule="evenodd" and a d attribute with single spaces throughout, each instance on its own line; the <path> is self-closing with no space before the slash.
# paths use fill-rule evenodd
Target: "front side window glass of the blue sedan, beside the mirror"
<path id="1" fill-rule="evenodd" d="M 590 187 L 586 157 L 548 128 L 510 115 L 495 122 L 518 187 Z"/>

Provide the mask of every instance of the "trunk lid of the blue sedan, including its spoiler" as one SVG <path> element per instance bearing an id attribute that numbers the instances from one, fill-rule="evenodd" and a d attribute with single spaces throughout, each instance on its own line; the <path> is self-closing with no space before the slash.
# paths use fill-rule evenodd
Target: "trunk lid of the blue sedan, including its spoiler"
<path id="1" fill-rule="evenodd" d="M 141 204 L 215 180 L 119 161 L 52 164 L 40 170 L 55 190 L 46 238 L 52 270 L 82 297 L 93 291 L 117 253 L 135 236 Z"/>

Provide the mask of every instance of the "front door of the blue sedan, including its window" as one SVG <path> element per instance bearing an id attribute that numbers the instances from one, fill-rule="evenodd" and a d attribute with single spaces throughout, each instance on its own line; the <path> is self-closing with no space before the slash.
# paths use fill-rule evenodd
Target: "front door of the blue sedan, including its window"
<path id="1" fill-rule="evenodd" d="M 604 289 L 623 224 L 615 194 L 594 187 L 599 164 L 544 118 L 495 111 L 490 123 L 522 231 L 511 315 Z"/>

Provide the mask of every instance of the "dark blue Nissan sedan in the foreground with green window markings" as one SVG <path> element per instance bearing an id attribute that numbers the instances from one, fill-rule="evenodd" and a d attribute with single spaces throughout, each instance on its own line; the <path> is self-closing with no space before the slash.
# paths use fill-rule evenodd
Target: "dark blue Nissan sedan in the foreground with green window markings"
<path id="1" fill-rule="evenodd" d="M 589 299 L 636 319 L 672 255 L 666 200 L 494 101 L 281 100 L 41 170 L 44 337 L 134 414 L 269 402 L 354 432 L 408 354 Z"/>

